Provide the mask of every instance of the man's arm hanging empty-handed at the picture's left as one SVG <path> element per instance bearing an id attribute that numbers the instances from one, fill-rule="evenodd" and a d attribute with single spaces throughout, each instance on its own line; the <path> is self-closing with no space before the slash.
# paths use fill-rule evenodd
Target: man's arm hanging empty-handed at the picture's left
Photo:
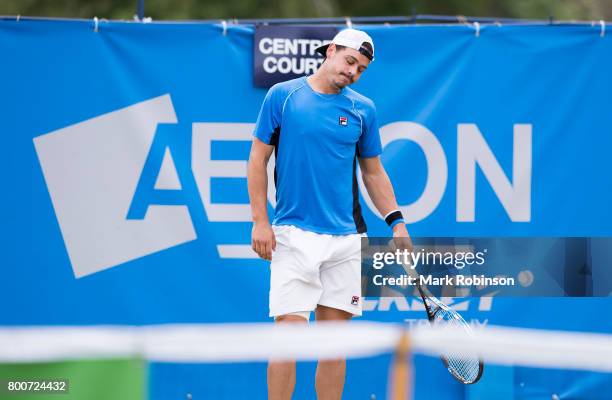
<path id="1" fill-rule="evenodd" d="M 253 214 L 253 231 L 251 246 L 263 259 L 272 259 L 272 250 L 276 249 L 274 231 L 268 220 L 268 160 L 274 146 L 253 138 L 247 170 L 249 199 Z"/>

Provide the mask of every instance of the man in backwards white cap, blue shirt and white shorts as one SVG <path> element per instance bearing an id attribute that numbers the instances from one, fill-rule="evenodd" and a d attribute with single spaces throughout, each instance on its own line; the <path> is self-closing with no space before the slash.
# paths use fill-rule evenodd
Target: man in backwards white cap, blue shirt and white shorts
<path id="1" fill-rule="evenodd" d="M 361 315 L 361 216 L 356 161 L 374 205 L 409 244 L 382 147 L 373 102 L 349 89 L 374 59 L 365 32 L 346 29 L 317 49 L 325 61 L 314 75 L 274 85 L 255 127 L 248 167 L 253 250 L 271 260 L 270 316 L 276 323 L 349 320 Z M 267 214 L 268 160 L 275 152 L 277 205 Z M 405 243 L 401 243 L 401 242 Z M 345 360 L 317 365 L 320 400 L 340 399 Z M 290 399 L 294 362 L 268 366 L 270 400 Z"/>

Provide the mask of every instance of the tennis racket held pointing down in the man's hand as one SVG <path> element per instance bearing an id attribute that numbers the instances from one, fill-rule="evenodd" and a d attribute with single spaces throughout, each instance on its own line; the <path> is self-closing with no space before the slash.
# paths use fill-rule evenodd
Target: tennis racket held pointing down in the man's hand
<path id="1" fill-rule="evenodd" d="M 408 268 L 410 269 L 410 268 Z M 461 315 L 440 300 L 438 300 L 427 287 L 420 283 L 420 277 L 416 271 L 412 270 L 411 275 L 417 275 L 416 286 L 423 299 L 427 318 L 432 325 L 445 325 L 452 327 L 460 327 L 467 334 L 472 334 L 470 325 L 463 319 Z M 475 354 L 470 353 L 448 353 L 441 354 L 440 358 L 444 363 L 448 372 L 459 382 L 471 385 L 478 382 L 484 370 L 484 363 Z"/>

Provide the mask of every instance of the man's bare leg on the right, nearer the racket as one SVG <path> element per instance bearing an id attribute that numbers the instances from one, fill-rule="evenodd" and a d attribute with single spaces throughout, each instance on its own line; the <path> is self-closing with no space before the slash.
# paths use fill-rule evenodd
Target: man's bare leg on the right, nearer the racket
<path id="1" fill-rule="evenodd" d="M 318 305 L 315 310 L 317 321 L 348 321 L 353 316 L 346 311 Z M 318 400 L 340 400 L 344 389 L 346 360 L 319 361 L 315 388 Z"/>

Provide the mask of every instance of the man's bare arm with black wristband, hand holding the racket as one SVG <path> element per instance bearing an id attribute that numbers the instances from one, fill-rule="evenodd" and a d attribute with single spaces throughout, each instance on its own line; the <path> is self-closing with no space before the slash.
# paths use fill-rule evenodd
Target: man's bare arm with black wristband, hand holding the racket
<path id="1" fill-rule="evenodd" d="M 380 162 L 380 157 L 359 158 L 359 166 L 361 167 L 363 183 L 378 212 L 384 217 L 391 211 L 397 210 L 398 206 L 395 199 L 395 193 L 393 192 L 393 186 L 391 185 L 385 168 Z M 397 238 L 409 238 L 406 225 L 402 223 L 396 224 L 393 227 L 393 236 Z M 397 244 L 410 248 L 412 246 L 409 240 L 405 243 L 402 242 Z"/>

